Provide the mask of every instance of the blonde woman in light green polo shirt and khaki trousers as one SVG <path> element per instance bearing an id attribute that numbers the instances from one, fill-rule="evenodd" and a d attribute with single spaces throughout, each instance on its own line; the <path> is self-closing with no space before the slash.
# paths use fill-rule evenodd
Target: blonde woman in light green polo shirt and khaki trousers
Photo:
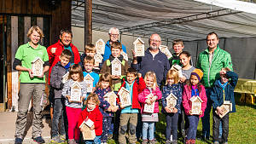
<path id="1" fill-rule="evenodd" d="M 38 26 L 32 26 L 27 32 L 30 42 L 20 45 L 15 54 L 13 68 L 21 71 L 19 91 L 19 112 L 16 119 L 15 144 L 23 141 L 26 128 L 26 114 L 29 102 L 33 96 L 33 122 L 32 137 L 38 143 L 44 143 L 41 137 L 42 130 L 42 107 L 40 105 L 45 90 L 44 73 L 49 70 L 49 57 L 46 48 L 39 44 L 44 37 L 43 31 Z M 32 72 L 32 61 L 40 58 L 44 61 L 44 70 L 40 76 L 34 76 Z"/>

